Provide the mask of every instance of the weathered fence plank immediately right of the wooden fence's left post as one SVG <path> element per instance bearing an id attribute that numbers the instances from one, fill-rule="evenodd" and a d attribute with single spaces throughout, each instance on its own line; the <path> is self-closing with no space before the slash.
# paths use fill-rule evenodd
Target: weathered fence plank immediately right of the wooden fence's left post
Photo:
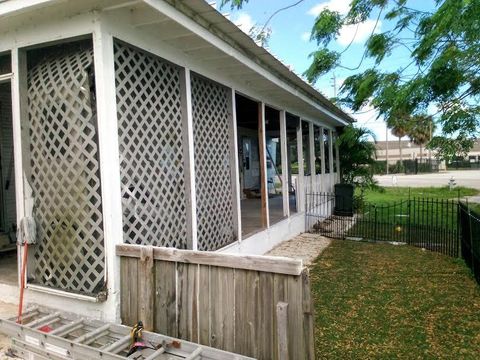
<path id="1" fill-rule="evenodd" d="M 175 263 L 155 262 L 155 295 L 155 331 L 178 337 Z"/>

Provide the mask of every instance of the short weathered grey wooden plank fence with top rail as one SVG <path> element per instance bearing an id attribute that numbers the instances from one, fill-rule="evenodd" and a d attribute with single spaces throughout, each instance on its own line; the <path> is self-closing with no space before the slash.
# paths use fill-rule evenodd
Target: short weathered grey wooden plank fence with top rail
<path id="1" fill-rule="evenodd" d="M 122 322 L 258 359 L 314 359 L 299 260 L 118 245 Z M 280 350 L 279 350 L 280 349 Z"/>

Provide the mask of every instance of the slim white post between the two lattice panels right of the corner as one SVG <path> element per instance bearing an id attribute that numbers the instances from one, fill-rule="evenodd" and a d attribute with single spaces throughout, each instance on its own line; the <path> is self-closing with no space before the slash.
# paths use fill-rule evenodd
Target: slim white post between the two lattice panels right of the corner
<path id="1" fill-rule="evenodd" d="M 189 69 L 181 71 L 183 158 L 187 197 L 187 248 L 198 250 L 197 196 L 195 192 L 195 153 L 193 140 L 192 81 Z"/>

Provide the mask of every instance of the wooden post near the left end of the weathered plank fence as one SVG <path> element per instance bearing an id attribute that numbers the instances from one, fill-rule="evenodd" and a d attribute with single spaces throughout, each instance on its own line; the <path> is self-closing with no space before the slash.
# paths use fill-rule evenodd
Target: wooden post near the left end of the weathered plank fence
<path id="1" fill-rule="evenodd" d="M 155 279 L 153 273 L 153 246 L 140 248 L 138 263 L 138 320 L 147 331 L 153 331 L 155 307 Z"/>

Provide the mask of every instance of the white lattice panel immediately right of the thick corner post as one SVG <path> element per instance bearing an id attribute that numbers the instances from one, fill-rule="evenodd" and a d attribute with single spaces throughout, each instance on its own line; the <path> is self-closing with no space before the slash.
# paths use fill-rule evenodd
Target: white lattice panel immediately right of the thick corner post
<path id="1" fill-rule="evenodd" d="M 115 43 L 124 241 L 187 246 L 179 68 Z"/>

